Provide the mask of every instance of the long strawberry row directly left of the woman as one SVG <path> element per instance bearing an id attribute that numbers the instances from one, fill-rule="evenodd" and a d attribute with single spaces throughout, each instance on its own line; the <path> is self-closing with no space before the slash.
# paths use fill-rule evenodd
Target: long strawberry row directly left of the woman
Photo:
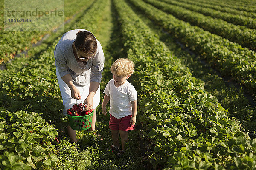
<path id="1" fill-rule="evenodd" d="M 90 0 L 84 3 L 87 8 L 66 24 L 67 30 L 80 28 L 83 23 L 90 23 L 90 30 L 96 30 L 102 15 L 99 6 L 103 8 L 105 3 L 98 1 L 91 7 Z M 85 12 L 95 14 L 94 20 L 83 16 Z M 97 13 L 101 15 L 96 17 Z M 67 121 L 61 114 L 54 48 L 62 34 L 52 34 L 44 45 L 32 51 L 32 58 L 17 58 L 1 71 L 1 169 L 52 167 L 59 161 L 54 141 L 57 129 L 62 130 Z"/>

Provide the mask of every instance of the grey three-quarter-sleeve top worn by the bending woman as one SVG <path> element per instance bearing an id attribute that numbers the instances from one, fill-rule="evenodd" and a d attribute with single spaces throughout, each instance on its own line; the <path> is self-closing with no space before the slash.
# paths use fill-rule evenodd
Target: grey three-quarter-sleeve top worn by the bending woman
<path id="1" fill-rule="evenodd" d="M 59 40 L 54 50 L 55 65 L 59 74 L 63 77 L 70 74 L 73 82 L 78 85 L 87 85 L 90 82 L 101 82 L 104 53 L 100 42 L 97 40 L 97 50 L 94 58 L 87 61 L 86 65 L 77 62 L 73 53 L 72 44 L 76 40 L 78 31 L 87 31 L 85 29 L 76 29 L 66 32 Z"/>

